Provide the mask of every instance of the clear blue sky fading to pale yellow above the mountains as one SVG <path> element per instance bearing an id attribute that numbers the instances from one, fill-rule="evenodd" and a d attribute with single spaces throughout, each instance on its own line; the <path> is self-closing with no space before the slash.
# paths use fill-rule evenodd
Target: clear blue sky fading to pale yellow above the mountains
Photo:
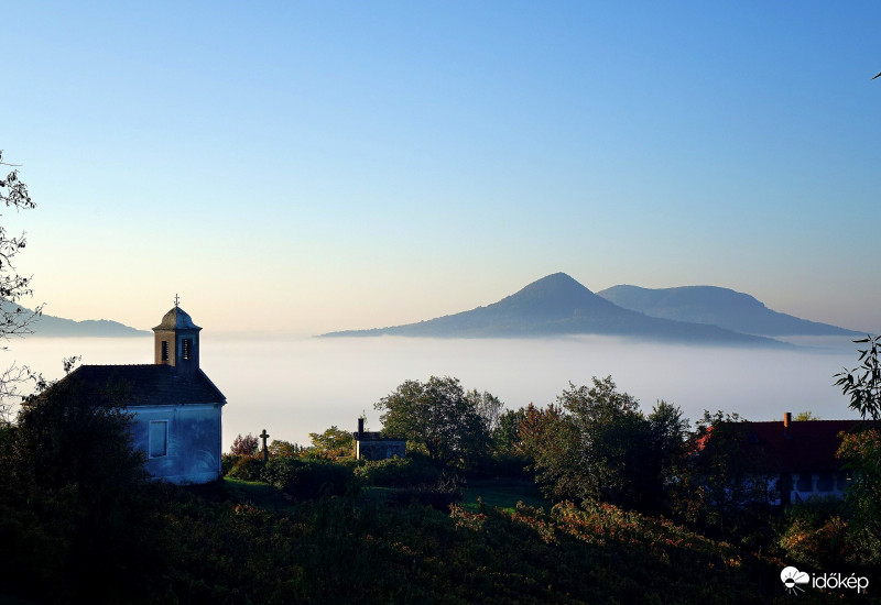
<path id="1" fill-rule="evenodd" d="M 881 331 L 881 3 L 17 2 L 34 302 L 316 334 L 717 285 Z"/>

